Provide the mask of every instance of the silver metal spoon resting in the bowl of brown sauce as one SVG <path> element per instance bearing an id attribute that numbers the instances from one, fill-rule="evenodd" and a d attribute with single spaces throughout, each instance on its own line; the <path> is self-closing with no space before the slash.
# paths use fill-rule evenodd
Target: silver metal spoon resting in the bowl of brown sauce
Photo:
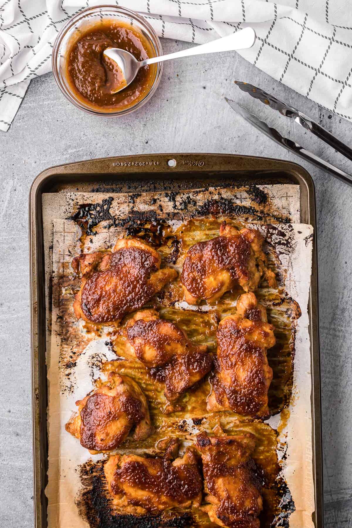
<path id="1" fill-rule="evenodd" d="M 177 51 L 176 53 L 169 53 L 168 55 L 151 57 L 144 61 L 137 61 L 134 55 L 126 50 L 121 50 L 120 48 L 107 48 L 103 51 L 103 55 L 106 59 L 109 59 L 109 62 L 112 61 L 112 67 L 115 71 L 116 77 L 116 86 L 112 91 L 116 93 L 123 90 L 123 88 L 126 88 L 135 79 L 138 70 L 148 64 L 191 55 L 201 55 L 203 53 L 244 50 L 253 46 L 255 38 L 255 31 L 252 27 L 246 27 L 244 30 L 237 31 L 236 33 L 224 36 L 221 39 L 213 40 L 212 42 L 207 42 L 201 46 Z"/>

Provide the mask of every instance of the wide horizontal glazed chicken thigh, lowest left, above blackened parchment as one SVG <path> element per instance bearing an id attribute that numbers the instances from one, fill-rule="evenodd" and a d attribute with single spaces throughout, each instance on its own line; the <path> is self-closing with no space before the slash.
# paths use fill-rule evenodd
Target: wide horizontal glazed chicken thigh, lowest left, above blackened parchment
<path id="1" fill-rule="evenodd" d="M 113 503 L 125 509 L 127 505 L 143 508 L 140 513 L 199 506 L 203 482 L 197 453 L 188 447 L 182 458 L 175 458 L 177 452 L 178 441 L 174 439 L 162 458 L 110 457 L 104 472 Z"/>

